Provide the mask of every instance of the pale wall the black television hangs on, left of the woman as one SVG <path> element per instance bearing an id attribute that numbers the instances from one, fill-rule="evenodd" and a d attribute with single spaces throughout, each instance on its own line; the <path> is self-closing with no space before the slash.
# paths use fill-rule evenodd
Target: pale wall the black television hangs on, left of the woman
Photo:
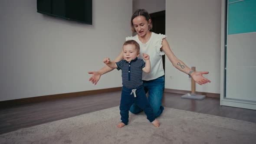
<path id="1" fill-rule="evenodd" d="M 93 0 L 93 24 L 36 12 L 36 0 L 0 1 L 0 101 L 121 86 L 114 70 L 92 85 L 89 71 L 114 59 L 131 36 L 131 0 Z"/>

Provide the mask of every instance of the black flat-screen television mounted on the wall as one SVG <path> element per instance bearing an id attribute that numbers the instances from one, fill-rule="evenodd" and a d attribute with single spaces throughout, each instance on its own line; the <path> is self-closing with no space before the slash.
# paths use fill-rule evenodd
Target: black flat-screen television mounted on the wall
<path id="1" fill-rule="evenodd" d="M 92 0 L 37 0 L 37 12 L 92 24 Z"/>

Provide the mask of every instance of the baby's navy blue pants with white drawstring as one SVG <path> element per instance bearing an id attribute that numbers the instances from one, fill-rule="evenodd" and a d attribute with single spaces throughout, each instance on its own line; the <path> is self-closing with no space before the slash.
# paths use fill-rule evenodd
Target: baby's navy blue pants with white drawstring
<path id="1" fill-rule="evenodd" d="M 136 97 L 133 93 L 131 94 L 132 89 L 137 89 Z M 149 104 L 148 98 L 144 91 L 144 86 L 141 85 L 137 88 L 126 88 L 125 86 L 123 86 L 119 107 L 122 123 L 124 123 L 125 125 L 128 124 L 129 109 L 134 103 L 145 112 L 145 114 L 147 115 L 147 119 L 150 122 L 155 120 L 154 112 Z"/>

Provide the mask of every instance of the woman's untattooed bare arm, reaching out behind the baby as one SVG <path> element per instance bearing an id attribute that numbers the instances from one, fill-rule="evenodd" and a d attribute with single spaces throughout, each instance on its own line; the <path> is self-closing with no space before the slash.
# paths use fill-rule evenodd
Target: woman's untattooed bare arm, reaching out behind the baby
<path id="1" fill-rule="evenodd" d="M 118 62 L 123 59 L 123 52 L 121 52 L 117 58 L 115 58 L 114 62 Z M 92 84 L 96 85 L 99 81 L 101 75 L 104 75 L 107 72 L 112 71 L 113 69 L 108 67 L 108 65 L 105 65 L 102 69 L 94 72 L 88 72 L 89 74 L 92 74 L 89 81 L 92 82 Z"/>

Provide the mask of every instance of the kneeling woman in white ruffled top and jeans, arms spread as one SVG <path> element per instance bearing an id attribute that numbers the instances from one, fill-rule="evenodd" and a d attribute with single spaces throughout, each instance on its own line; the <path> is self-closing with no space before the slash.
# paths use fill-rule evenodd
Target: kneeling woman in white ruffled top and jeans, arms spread
<path id="1" fill-rule="evenodd" d="M 184 64 L 180 59 L 174 55 L 171 51 L 170 46 L 165 39 L 165 35 L 156 34 L 151 32 L 152 21 L 146 10 L 136 10 L 131 16 L 131 30 L 136 32 L 136 36 L 127 37 L 126 40 L 135 40 L 139 43 L 141 49 L 140 53 L 147 53 L 151 58 L 151 72 L 143 73 L 142 80 L 144 82 L 145 93 L 148 92 L 148 100 L 153 109 L 154 116 L 157 118 L 164 110 L 161 106 L 162 96 L 164 92 L 164 69 L 162 63 L 162 55 L 166 55 L 172 65 L 192 77 L 195 82 L 199 85 L 206 84 L 210 80 L 203 77 L 203 74 L 208 74 L 209 72 L 194 72 L 187 65 Z M 142 59 L 142 55 L 138 56 Z M 115 62 L 123 59 L 122 52 L 114 60 Z M 112 71 L 113 69 L 108 66 L 103 67 L 97 72 L 88 72 L 92 74 L 89 81 L 92 84 L 97 84 L 101 75 Z M 130 111 L 134 114 L 141 112 L 142 110 L 137 105 L 132 105 Z"/>

